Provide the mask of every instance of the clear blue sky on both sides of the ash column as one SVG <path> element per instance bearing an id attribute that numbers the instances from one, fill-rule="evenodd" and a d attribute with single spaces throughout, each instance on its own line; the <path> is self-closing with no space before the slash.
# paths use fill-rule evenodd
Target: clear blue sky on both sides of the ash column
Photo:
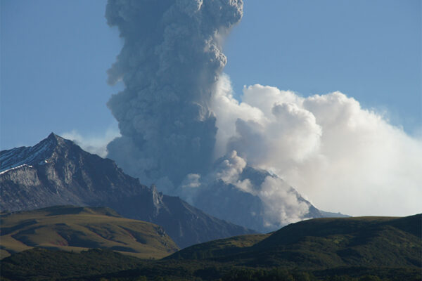
<path id="1" fill-rule="evenodd" d="M 105 0 L 1 0 L 0 149 L 51 131 L 101 135 L 118 91 L 119 53 Z M 392 124 L 422 126 L 421 1 L 248 0 L 224 46 L 234 89 L 264 84 L 308 96 L 342 91 Z"/>

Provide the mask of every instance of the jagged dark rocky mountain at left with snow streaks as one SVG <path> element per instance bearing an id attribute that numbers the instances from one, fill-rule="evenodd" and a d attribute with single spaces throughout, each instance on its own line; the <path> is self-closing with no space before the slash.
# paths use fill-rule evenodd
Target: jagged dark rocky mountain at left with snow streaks
<path id="1" fill-rule="evenodd" d="M 254 233 L 205 214 L 155 186 L 141 185 L 115 162 L 51 133 L 32 147 L 0 152 L 0 209 L 75 205 L 110 207 L 127 218 L 162 226 L 179 247 Z"/>

